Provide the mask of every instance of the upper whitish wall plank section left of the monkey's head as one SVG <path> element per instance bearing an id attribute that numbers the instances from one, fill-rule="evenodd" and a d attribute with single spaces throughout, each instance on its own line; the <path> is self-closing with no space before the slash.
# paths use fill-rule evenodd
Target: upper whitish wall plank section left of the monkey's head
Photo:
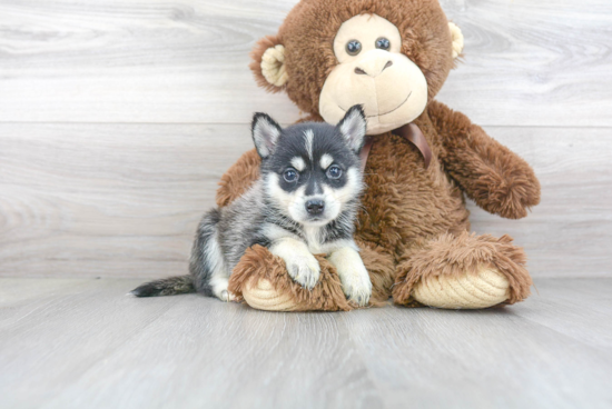
<path id="1" fill-rule="evenodd" d="M 246 123 L 297 109 L 257 89 L 255 41 L 295 1 L 0 3 L 0 121 Z"/>

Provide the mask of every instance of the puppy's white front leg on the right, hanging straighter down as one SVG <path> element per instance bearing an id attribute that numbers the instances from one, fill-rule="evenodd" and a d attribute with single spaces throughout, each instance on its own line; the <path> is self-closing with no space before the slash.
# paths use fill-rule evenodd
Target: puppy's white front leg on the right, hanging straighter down
<path id="1" fill-rule="evenodd" d="M 345 296 L 358 306 L 367 306 L 372 281 L 359 253 L 351 247 L 333 251 L 327 258 L 338 271 Z"/>

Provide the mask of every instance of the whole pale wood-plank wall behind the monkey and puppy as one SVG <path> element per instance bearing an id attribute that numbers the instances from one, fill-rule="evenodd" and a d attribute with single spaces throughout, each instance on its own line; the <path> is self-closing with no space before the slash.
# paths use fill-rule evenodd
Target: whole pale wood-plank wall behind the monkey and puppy
<path id="1" fill-rule="evenodd" d="M 0 276 L 186 271 L 200 215 L 250 149 L 248 53 L 288 0 L 0 0 Z M 510 233 L 534 277 L 612 277 L 612 3 L 444 0 L 465 58 L 438 99 L 524 157 L 542 203 Z"/>

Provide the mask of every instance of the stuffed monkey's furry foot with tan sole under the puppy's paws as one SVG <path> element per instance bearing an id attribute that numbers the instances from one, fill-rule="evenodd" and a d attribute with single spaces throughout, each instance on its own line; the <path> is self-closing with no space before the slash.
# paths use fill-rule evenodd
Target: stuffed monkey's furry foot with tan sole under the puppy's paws
<path id="1" fill-rule="evenodd" d="M 344 296 L 336 269 L 316 256 L 320 277 L 306 290 L 290 279 L 285 262 L 261 246 L 245 252 L 229 278 L 229 291 L 250 307 L 267 311 L 348 311 L 355 308 Z"/>

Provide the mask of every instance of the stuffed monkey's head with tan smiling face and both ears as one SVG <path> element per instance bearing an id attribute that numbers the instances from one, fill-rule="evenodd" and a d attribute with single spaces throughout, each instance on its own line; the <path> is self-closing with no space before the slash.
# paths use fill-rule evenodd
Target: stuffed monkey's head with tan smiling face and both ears
<path id="1" fill-rule="evenodd" d="M 378 134 L 425 110 L 462 48 L 437 0 L 302 0 L 257 42 L 250 68 L 329 123 L 362 104 L 367 133 Z"/>

